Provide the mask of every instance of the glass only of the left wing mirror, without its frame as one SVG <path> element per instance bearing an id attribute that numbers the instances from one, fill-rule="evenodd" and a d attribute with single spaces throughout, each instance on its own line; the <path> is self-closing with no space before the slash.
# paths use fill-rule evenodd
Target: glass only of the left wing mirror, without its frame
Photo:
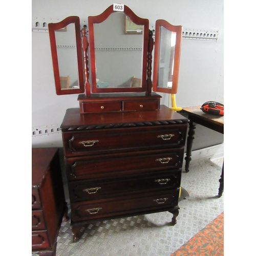
<path id="1" fill-rule="evenodd" d="M 74 23 L 55 30 L 60 90 L 79 89 Z"/>

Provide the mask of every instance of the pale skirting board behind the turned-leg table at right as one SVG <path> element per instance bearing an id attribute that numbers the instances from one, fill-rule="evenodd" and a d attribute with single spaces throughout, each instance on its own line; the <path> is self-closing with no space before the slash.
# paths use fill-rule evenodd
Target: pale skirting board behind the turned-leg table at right
<path id="1" fill-rule="evenodd" d="M 219 144 L 215 146 L 205 147 L 201 150 L 192 151 L 191 161 L 189 166 L 197 165 L 202 162 L 209 161 L 210 159 L 215 159 L 224 156 L 224 144 Z M 186 153 L 184 154 L 184 158 Z M 185 160 L 183 160 L 182 168 L 185 168 Z"/>

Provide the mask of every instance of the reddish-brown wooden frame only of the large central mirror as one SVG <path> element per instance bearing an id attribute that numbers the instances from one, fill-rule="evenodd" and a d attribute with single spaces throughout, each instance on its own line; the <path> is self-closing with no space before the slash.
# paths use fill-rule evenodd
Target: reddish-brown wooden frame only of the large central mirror
<path id="1" fill-rule="evenodd" d="M 138 17 L 129 7 L 124 5 L 123 13 L 131 18 L 132 22 L 139 25 L 144 25 L 143 30 L 143 45 L 142 45 L 142 67 L 141 67 L 141 87 L 139 88 L 97 88 L 96 87 L 96 69 L 95 69 L 95 45 L 94 45 L 94 24 L 101 23 L 110 14 L 116 12 L 113 9 L 114 5 L 108 7 L 104 12 L 97 16 L 88 17 L 89 28 L 89 52 L 90 52 L 90 76 L 92 93 L 123 93 L 123 92 L 145 92 L 146 91 L 146 75 L 147 75 L 147 52 L 148 52 L 148 19 Z"/>

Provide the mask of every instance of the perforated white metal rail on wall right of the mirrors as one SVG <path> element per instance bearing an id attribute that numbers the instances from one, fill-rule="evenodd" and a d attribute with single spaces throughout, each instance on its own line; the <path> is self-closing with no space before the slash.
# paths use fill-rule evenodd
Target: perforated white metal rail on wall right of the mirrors
<path id="1" fill-rule="evenodd" d="M 218 33 L 212 30 L 183 29 L 182 39 L 217 41 Z"/>

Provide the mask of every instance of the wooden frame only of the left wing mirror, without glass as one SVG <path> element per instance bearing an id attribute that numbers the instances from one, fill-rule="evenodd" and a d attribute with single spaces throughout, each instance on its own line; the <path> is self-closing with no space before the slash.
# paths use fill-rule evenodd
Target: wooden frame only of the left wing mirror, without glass
<path id="1" fill-rule="evenodd" d="M 77 78 L 78 78 L 79 89 L 61 90 L 55 31 L 63 29 L 72 23 L 74 23 L 74 32 L 75 32 L 75 39 L 76 39 L 76 54 L 77 54 L 76 57 L 77 57 L 77 70 L 78 70 Z M 53 63 L 56 94 L 57 95 L 66 95 L 66 94 L 83 93 L 84 92 L 84 82 L 83 82 L 83 65 L 82 65 L 79 17 L 78 16 L 70 16 L 70 17 L 63 19 L 59 23 L 49 23 L 48 28 L 49 28 L 50 45 L 51 45 L 51 52 L 52 52 L 52 63 Z"/>

